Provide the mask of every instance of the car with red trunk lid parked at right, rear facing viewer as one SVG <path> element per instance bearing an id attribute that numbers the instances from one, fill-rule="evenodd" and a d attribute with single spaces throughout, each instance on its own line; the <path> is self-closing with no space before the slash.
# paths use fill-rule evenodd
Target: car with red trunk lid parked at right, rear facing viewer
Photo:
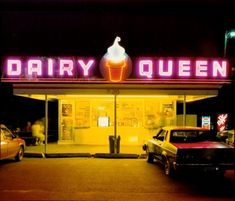
<path id="1" fill-rule="evenodd" d="M 183 169 L 213 171 L 222 176 L 235 168 L 234 147 L 201 127 L 162 127 L 143 149 L 147 162 L 159 161 L 170 176 Z"/>

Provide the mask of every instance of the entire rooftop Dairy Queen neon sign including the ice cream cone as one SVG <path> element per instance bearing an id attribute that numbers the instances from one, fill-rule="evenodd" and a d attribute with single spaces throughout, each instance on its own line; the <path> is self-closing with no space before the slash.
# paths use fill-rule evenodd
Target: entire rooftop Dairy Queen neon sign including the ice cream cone
<path id="1" fill-rule="evenodd" d="M 107 53 L 93 57 L 7 57 L 4 80 L 37 81 L 55 78 L 66 81 L 103 80 L 108 82 L 154 80 L 226 80 L 229 65 L 224 59 L 208 58 L 130 58 L 116 37 Z M 133 68 L 133 70 L 132 70 Z M 62 79 L 63 78 L 63 79 Z"/>

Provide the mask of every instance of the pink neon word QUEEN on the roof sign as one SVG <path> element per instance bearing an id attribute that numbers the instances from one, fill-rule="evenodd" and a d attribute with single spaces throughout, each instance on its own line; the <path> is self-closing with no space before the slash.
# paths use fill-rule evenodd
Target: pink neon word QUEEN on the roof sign
<path id="1" fill-rule="evenodd" d="M 228 63 L 216 59 L 139 59 L 137 71 L 142 78 L 226 78 Z"/>

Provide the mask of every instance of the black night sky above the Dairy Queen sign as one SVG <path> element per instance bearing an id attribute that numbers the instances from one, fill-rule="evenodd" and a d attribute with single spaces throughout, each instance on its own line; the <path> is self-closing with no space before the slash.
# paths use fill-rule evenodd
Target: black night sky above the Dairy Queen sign
<path id="1" fill-rule="evenodd" d="M 130 56 L 222 57 L 234 2 L 0 0 L 0 53 L 103 56 L 118 35 Z"/>

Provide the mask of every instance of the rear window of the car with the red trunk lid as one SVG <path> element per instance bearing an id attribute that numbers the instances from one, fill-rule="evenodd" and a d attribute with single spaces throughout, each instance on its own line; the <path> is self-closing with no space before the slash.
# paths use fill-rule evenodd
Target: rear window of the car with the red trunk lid
<path id="1" fill-rule="evenodd" d="M 172 130 L 170 142 L 201 142 L 219 141 L 211 131 L 200 130 Z"/>

